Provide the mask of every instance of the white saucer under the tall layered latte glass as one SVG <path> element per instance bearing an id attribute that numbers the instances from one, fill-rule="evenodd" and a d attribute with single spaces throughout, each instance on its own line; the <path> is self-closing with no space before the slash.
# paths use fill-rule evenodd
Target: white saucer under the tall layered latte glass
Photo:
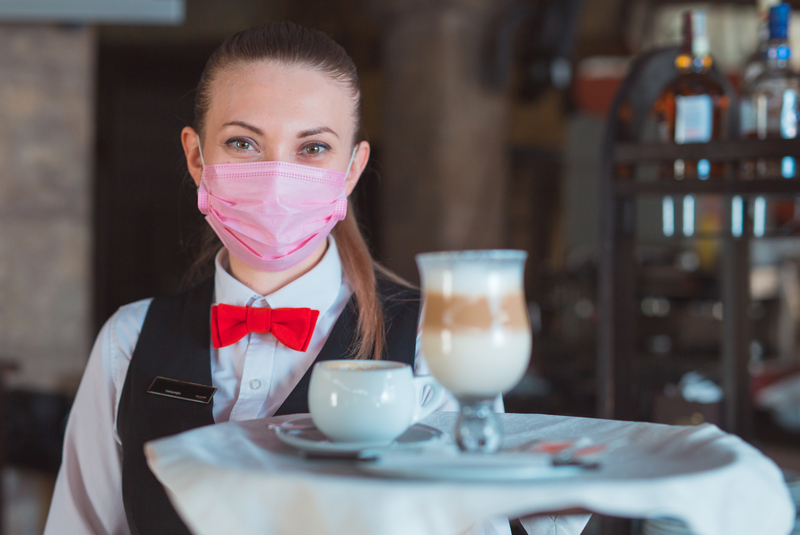
<path id="1" fill-rule="evenodd" d="M 542 481 L 573 477 L 579 466 L 553 466 L 543 453 L 460 453 L 452 450 L 384 451 L 358 468 L 376 475 L 452 481 Z"/>

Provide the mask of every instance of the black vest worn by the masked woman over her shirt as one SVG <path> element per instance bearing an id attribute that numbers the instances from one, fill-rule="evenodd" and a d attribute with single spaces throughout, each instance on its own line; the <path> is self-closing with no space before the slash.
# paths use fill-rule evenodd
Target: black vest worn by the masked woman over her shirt
<path id="1" fill-rule="evenodd" d="M 147 467 L 144 444 L 214 423 L 212 403 L 202 405 L 148 394 L 156 376 L 211 385 L 210 311 L 213 278 L 182 294 L 153 300 L 131 357 L 119 402 L 122 499 L 132 535 L 189 535 L 166 492 Z M 419 292 L 378 279 L 386 321 L 383 358 L 414 363 Z M 356 330 L 355 299 L 347 303 L 315 362 L 348 358 Z M 310 367 L 275 413 L 308 412 Z"/>

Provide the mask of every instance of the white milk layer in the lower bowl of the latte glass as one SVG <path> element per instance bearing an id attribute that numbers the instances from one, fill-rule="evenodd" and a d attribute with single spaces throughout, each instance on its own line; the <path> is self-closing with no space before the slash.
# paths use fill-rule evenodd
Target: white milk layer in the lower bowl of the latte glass
<path id="1" fill-rule="evenodd" d="M 531 355 L 531 336 L 524 330 L 431 329 L 423 330 L 421 341 L 431 373 L 456 395 L 495 396 L 511 390 Z"/>

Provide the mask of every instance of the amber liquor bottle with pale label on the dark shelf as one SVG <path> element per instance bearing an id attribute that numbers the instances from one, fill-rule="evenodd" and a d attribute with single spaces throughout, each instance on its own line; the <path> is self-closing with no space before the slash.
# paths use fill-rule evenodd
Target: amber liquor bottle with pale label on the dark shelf
<path id="1" fill-rule="evenodd" d="M 724 139 L 730 99 L 708 71 L 709 54 L 705 13 L 683 14 L 683 44 L 675 58 L 678 76 L 661 92 L 653 107 L 658 136 L 665 143 L 705 143 Z M 660 167 L 662 179 L 721 178 L 721 162 L 675 160 Z"/>

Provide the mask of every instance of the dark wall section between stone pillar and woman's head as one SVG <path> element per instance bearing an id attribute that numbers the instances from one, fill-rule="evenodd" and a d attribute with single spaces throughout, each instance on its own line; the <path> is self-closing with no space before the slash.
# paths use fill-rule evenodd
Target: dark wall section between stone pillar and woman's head
<path id="1" fill-rule="evenodd" d="M 97 71 L 95 326 L 175 291 L 202 224 L 181 129 L 214 45 L 101 46 Z"/>

